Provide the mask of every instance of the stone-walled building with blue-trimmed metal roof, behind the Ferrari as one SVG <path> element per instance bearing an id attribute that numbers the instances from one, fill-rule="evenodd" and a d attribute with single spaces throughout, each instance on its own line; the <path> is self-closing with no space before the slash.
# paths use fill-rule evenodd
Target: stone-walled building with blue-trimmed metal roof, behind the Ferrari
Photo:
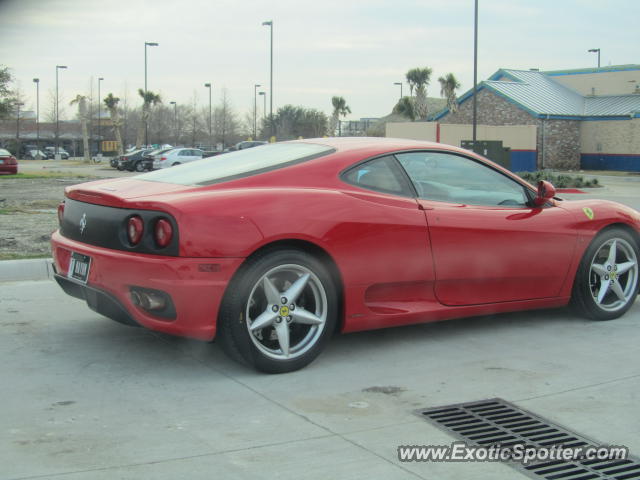
<path id="1" fill-rule="evenodd" d="M 520 170 L 640 171 L 640 65 L 541 72 L 500 69 L 477 89 L 479 125 L 535 125 L 535 150 L 511 152 Z M 473 90 L 441 124 L 473 121 Z"/>

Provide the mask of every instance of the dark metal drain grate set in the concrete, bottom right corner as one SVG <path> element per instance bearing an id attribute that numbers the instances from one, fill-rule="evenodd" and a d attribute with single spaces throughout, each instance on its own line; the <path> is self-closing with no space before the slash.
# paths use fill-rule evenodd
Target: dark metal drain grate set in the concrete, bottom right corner
<path id="1" fill-rule="evenodd" d="M 418 410 L 438 428 L 468 445 L 503 448 L 516 444 L 532 447 L 599 447 L 604 444 L 523 410 L 501 398 Z M 505 462 L 530 478 L 546 480 L 640 480 L 640 461 L 576 460 L 523 465 Z"/>

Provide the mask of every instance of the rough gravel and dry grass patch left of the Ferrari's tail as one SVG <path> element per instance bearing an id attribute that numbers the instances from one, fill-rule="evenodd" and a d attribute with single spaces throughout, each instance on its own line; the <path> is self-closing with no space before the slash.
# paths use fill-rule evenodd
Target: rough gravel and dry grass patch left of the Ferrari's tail
<path id="1" fill-rule="evenodd" d="M 57 207 L 69 185 L 90 178 L 0 180 L 0 260 L 51 255 Z"/>

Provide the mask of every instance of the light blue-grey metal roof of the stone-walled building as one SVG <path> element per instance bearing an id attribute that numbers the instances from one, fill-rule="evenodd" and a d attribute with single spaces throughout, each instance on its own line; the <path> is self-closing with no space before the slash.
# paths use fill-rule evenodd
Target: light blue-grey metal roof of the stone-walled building
<path id="1" fill-rule="evenodd" d="M 640 112 L 640 95 L 584 97 L 542 72 L 499 70 L 482 85 L 534 115 L 625 116 Z"/>

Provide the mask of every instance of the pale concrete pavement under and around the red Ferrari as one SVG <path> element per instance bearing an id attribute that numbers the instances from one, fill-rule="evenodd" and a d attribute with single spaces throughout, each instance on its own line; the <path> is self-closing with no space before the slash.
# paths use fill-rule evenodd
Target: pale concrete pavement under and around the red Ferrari
<path id="1" fill-rule="evenodd" d="M 603 183 L 579 196 L 640 208 L 640 183 Z M 1 283 L 0 478 L 524 478 L 398 461 L 399 445 L 454 440 L 416 409 L 493 397 L 638 454 L 639 323 L 636 301 L 610 322 L 560 309 L 349 334 L 274 376 L 116 324 L 50 280 Z"/>

